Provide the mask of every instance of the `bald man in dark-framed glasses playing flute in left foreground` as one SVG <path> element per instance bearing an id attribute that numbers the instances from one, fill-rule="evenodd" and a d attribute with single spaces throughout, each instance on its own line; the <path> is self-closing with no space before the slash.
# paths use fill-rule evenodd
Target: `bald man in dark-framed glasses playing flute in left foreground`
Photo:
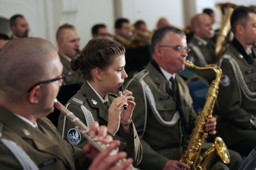
<path id="1" fill-rule="evenodd" d="M 0 169 L 128 168 L 132 159 L 114 166 L 125 153 L 108 156 L 119 141 L 100 154 L 90 144 L 78 149 L 66 143 L 45 117 L 54 110 L 64 80 L 62 68 L 57 50 L 44 39 L 14 39 L 0 51 Z M 106 131 L 96 122 L 90 127 L 90 135 L 110 144 Z"/>

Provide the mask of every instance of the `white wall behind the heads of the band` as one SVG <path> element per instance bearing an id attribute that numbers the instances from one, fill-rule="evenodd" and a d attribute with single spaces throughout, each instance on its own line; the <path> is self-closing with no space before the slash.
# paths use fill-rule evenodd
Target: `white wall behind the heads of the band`
<path id="1" fill-rule="evenodd" d="M 160 17 L 166 17 L 172 25 L 184 28 L 193 15 L 207 7 L 216 12 L 219 23 L 220 11 L 215 7 L 219 2 L 226 0 L 0 0 L 0 17 L 9 19 L 14 14 L 23 14 L 30 25 L 30 36 L 48 39 L 54 45 L 58 26 L 66 22 L 74 24 L 82 48 L 91 39 L 92 25 L 105 23 L 113 34 L 117 17 L 128 18 L 131 23 L 145 20 L 150 30 Z M 232 3 L 256 5 L 255 0 L 232 0 Z"/>

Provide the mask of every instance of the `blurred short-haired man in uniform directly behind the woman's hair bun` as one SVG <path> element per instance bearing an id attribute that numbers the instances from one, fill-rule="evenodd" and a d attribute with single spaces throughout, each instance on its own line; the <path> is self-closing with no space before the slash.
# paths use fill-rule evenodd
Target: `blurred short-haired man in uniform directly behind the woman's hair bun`
<path id="1" fill-rule="evenodd" d="M 60 61 L 63 64 L 63 73 L 66 76 L 65 84 L 80 83 L 81 71 L 71 69 L 71 59 L 79 54 L 80 37 L 74 25 L 65 23 L 56 33 Z"/>

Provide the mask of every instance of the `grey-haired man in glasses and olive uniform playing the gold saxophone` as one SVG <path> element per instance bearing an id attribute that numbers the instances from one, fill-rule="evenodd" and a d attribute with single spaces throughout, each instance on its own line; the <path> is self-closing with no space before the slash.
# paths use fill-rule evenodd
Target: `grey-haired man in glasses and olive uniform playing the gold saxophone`
<path id="1" fill-rule="evenodd" d="M 198 117 L 186 82 L 178 75 L 184 70 L 182 61 L 190 51 L 186 35 L 174 27 L 163 27 L 154 33 L 151 46 L 154 61 L 126 85 L 138 103 L 132 114 L 143 150 L 138 167 L 142 170 L 190 169 L 178 161 L 188 147 L 188 136 Z M 208 119 L 205 130 L 209 135 L 216 134 L 215 127 L 216 118 Z M 238 169 L 242 159 L 233 161 L 236 164 L 230 169 Z M 220 162 L 213 168 L 228 169 Z"/>

